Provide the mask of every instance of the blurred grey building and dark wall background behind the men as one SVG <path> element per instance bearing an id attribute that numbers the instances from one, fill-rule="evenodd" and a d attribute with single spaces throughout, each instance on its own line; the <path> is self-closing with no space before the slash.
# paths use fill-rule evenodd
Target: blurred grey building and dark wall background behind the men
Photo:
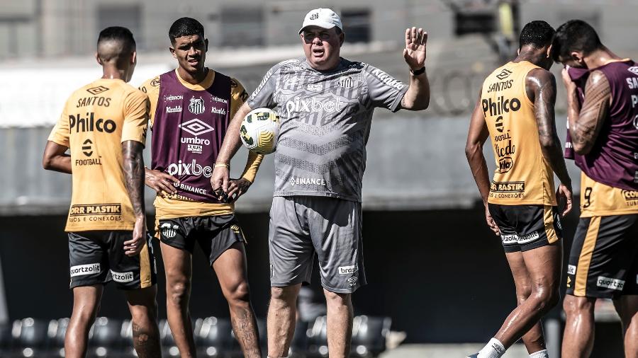
<path id="1" fill-rule="evenodd" d="M 318 6 L 342 17 L 342 57 L 372 64 L 401 81 L 408 81 L 401 56 L 405 28 L 422 27 L 429 34 L 430 108 L 374 114 L 363 190 L 369 284 L 354 294 L 356 314 L 391 319 L 391 325 L 384 321 L 379 340 L 384 346 L 402 345 L 384 353 L 387 357 L 458 357 L 481 347 L 459 343 L 493 336 L 515 306 L 515 296 L 500 241 L 484 224 L 464 156 L 478 89 L 489 72 L 515 57 L 520 28 L 532 20 L 557 27 L 581 18 L 613 52 L 637 58 L 635 0 L 0 0 L 0 325 L 13 330 L 14 340 L 23 318 L 49 322 L 71 311 L 63 232 L 71 178 L 44 171 L 41 158 L 67 96 L 101 76 L 94 59 L 99 30 L 123 25 L 133 31 L 138 67 L 131 84 L 138 86 L 177 66 L 168 50 L 168 28 L 182 16 L 196 18 L 210 43 L 208 67 L 239 79 L 250 93 L 273 64 L 303 57 L 298 28 Z M 559 83 L 556 125 L 564 141 L 559 65 L 552 71 Z M 485 153 L 493 168 L 489 144 Z M 233 174 L 239 175 L 245 158 L 242 149 Z M 237 203 L 259 317 L 265 317 L 269 297 L 272 161 L 273 156 L 264 159 L 250 192 Z M 573 163 L 568 166 L 578 195 L 579 173 Z M 154 197 L 147 191 L 150 219 Z M 564 220 L 566 253 L 577 218 L 578 209 Z M 160 318 L 165 318 L 164 274 L 155 246 Z M 200 251 L 194 267 L 192 315 L 228 319 L 228 306 Z M 606 312 L 604 307 L 600 312 Z M 103 297 L 100 315 L 128 317 L 123 296 L 113 287 Z M 621 351 L 620 325 L 613 315 L 600 317 L 595 347 L 608 348 L 604 357 L 622 357 L 609 351 Z M 321 326 L 315 318 L 306 322 L 308 337 L 314 325 Z M 552 357 L 558 357 L 561 310 L 556 308 L 546 322 Z M 526 354 L 515 347 L 505 357 Z"/>

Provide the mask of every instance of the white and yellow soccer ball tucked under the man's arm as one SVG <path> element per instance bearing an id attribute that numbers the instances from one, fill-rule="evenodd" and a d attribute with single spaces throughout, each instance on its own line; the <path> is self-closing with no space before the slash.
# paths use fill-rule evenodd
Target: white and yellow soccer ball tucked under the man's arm
<path id="1" fill-rule="evenodd" d="M 244 146 L 258 154 L 275 151 L 279 136 L 279 115 L 269 108 L 250 111 L 242 120 L 240 138 Z"/>

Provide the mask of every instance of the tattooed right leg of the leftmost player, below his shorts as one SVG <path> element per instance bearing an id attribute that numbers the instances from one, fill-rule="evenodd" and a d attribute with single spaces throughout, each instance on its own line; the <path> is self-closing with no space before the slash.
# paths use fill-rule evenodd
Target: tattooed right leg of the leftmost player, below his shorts
<path id="1" fill-rule="evenodd" d="M 157 328 L 156 294 L 156 286 L 126 292 L 133 321 L 133 346 L 140 358 L 162 357 Z"/>

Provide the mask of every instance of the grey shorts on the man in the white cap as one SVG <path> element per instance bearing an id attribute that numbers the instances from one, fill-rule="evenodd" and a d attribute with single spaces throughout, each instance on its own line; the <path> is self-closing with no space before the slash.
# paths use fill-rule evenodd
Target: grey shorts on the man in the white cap
<path id="1" fill-rule="evenodd" d="M 310 283 L 317 253 L 321 285 L 349 294 L 366 284 L 361 203 L 332 197 L 274 197 L 270 209 L 272 287 Z"/>

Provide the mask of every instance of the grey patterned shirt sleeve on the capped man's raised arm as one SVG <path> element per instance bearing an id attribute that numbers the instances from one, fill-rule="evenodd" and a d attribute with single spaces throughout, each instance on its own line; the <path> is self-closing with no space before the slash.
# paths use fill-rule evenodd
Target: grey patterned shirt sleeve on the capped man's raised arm
<path id="1" fill-rule="evenodd" d="M 401 109 L 401 100 L 408 91 L 405 83 L 386 72 L 366 64 L 364 77 L 368 84 L 372 107 L 381 107 L 396 112 Z"/>

